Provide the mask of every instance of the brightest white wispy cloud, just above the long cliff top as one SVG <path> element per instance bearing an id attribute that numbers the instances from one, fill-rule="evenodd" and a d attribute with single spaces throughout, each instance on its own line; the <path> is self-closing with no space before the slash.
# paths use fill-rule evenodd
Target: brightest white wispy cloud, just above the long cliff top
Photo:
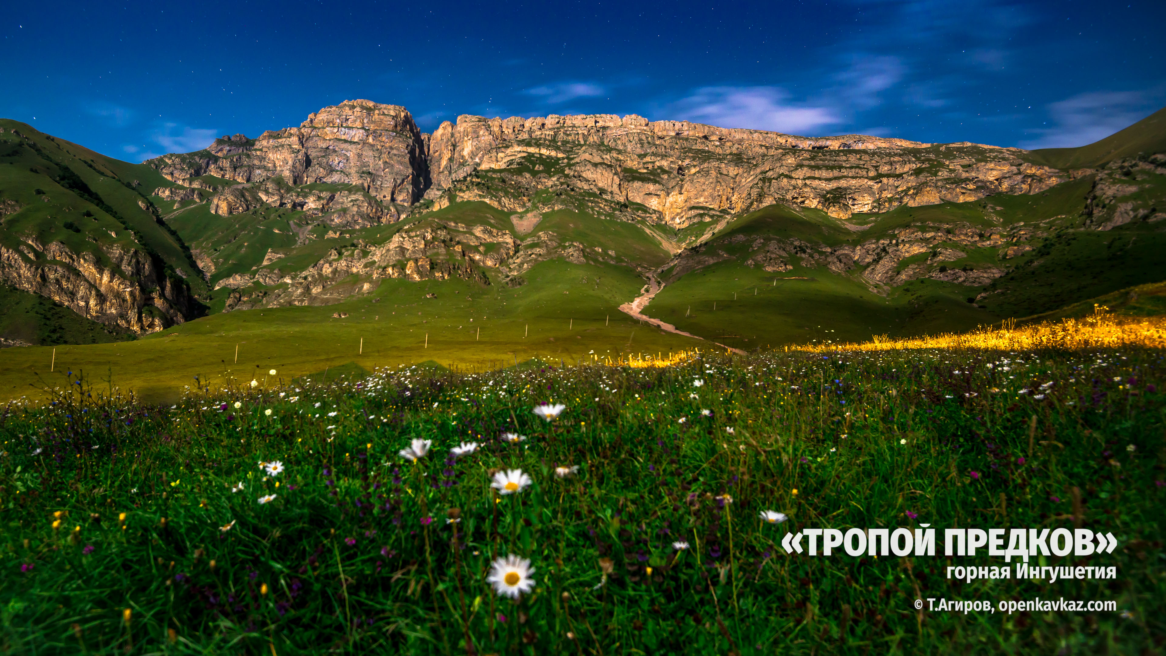
<path id="1" fill-rule="evenodd" d="M 791 103 L 789 93 L 777 86 L 704 86 L 673 103 L 661 114 L 661 118 L 719 127 L 786 134 L 803 134 L 842 123 L 833 107 Z"/>

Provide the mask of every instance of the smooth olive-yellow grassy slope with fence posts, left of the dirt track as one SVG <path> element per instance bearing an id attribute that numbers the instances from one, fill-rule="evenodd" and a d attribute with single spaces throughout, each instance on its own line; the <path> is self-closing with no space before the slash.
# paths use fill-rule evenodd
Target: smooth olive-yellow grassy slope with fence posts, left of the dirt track
<path id="1" fill-rule="evenodd" d="M 250 381 L 255 371 L 273 368 L 287 378 L 346 362 L 366 370 L 428 360 L 490 369 L 532 357 L 570 363 L 589 351 L 618 358 L 709 346 L 640 326 L 620 313 L 619 305 L 642 285 L 624 267 L 545 261 L 524 278 L 528 284 L 517 288 L 461 279 L 382 280 L 367 296 L 337 305 L 236 310 L 132 343 L 58 347 L 56 363 L 58 370 L 112 378 L 113 385 L 149 400 L 173 402 L 194 386 L 195 376 Z M 424 298 L 428 293 L 437 298 Z M 333 313 L 349 316 L 333 319 Z M 48 371 L 50 350 L 6 349 L 3 355 L 0 398 L 36 395 L 30 383 Z"/>

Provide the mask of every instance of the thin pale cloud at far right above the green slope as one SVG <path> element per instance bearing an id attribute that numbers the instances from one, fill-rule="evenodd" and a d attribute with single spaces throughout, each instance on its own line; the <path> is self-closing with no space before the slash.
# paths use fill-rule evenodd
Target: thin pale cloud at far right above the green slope
<path id="1" fill-rule="evenodd" d="M 1150 98 L 1142 91 L 1079 93 L 1048 105 L 1047 127 L 1026 130 L 1034 139 L 1021 148 L 1074 148 L 1093 144 L 1129 127 L 1149 114 Z"/>

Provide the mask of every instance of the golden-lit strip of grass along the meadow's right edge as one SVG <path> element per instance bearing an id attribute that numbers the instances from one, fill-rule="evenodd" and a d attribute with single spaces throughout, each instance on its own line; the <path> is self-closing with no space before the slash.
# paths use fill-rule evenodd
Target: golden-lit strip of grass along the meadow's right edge
<path id="1" fill-rule="evenodd" d="M 786 350 L 823 351 L 887 351 L 915 349 L 1083 349 L 1123 347 L 1166 347 L 1166 316 L 1126 317 L 1109 314 L 1105 306 L 1095 306 L 1093 316 L 1042 321 L 1017 327 L 1005 321 L 999 328 L 981 327 L 970 333 L 943 333 L 891 340 L 874 337 L 862 343 L 802 344 Z"/>

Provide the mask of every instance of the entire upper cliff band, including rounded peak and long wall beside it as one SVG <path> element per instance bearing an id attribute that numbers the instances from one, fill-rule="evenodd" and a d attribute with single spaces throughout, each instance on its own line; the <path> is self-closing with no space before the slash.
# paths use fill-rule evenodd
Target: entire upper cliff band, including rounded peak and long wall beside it
<path id="1" fill-rule="evenodd" d="M 1020 153 L 856 134 L 805 138 L 634 114 L 462 116 L 422 134 L 405 107 L 347 100 L 300 127 L 254 140 L 223 137 L 205 151 L 149 163 L 191 187 L 205 175 L 248 184 L 251 191 L 226 189 L 212 200 L 224 216 L 254 202 L 307 207 L 312 191 L 297 188 L 310 183 L 353 187 L 349 194 L 361 197 L 346 207 L 359 218 L 349 224 L 395 221 L 422 197 L 441 207 L 450 194 L 522 211 L 543 207 L 540 190 L 567 189 L 597 196 L 583 209 L 683 228 L 774 202 L 849 218 L 900 204 L 1033 194 L 1068 180 L 1024 162 Z M 483 172 L 499 184 L 482 189 L 475 176 Z M 326 203 L 315 207 L 326 214 Z"/>

